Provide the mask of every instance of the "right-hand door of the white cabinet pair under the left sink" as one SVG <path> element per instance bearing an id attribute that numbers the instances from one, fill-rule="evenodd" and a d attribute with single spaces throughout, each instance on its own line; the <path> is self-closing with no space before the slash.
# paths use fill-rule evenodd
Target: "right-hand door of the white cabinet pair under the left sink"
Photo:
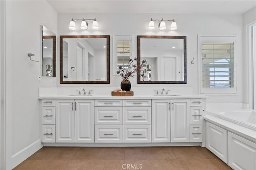
<path id="1" fill-rule="evenodd" d="M 75 100 L 75 142 L 94 142 L 94 100 Z"/>

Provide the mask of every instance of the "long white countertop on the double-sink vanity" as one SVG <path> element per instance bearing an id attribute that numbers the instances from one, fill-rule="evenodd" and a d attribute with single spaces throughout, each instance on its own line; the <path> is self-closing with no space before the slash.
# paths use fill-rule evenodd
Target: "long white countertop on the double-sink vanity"
<path id="1" fill-rule="evenodd" d="M 92 94 L 91 96 L 79 96 L 72 94 L 53 94 L 53 95 L 39 95 L 38 99 L 205 99 L 207 96 L 203 95 L 136 95 L 134 96 L 111 96 Z"/>

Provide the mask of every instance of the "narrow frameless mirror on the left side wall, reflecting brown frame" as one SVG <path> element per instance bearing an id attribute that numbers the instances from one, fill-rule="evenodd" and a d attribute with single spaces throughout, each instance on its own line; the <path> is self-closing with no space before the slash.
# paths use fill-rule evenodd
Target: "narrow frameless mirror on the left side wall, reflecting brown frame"
<path id="1" fill-rule="evenodd" d="M 42 26 L 42 75 L 55 77 L 56 36 Z"/>

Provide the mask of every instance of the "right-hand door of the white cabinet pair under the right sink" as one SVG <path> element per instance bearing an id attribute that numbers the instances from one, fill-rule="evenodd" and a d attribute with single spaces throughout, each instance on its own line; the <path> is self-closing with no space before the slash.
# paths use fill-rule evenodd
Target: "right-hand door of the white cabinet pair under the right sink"
<path id="1" fill-rule="evenodd" d="M 171 142 L 190 142 L 190 100 L 171 102 Z"/>

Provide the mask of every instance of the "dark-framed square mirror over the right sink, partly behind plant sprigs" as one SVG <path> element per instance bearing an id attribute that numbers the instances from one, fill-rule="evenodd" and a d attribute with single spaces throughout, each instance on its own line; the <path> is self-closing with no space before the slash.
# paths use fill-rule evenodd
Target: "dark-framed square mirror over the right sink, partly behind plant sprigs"
<path id="1" fill-rule="evenodd" d="M 138 36 L 138 84 L 186 84 L 186 36 Z"/>

